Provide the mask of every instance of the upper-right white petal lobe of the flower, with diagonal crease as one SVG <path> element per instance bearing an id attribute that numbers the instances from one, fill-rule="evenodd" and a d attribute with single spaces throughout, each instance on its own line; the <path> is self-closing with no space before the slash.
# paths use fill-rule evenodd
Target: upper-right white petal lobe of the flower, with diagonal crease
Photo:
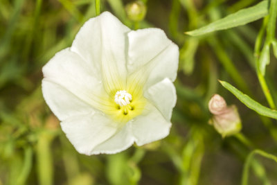
<path id="1" fill-rule="evenodd" d="M 128 73 L 141 71 L 148 77 L 146 87 L 169 78 L 177 77 L 179 49 L 163 30 L 148 28 L 128 33 Z"/>

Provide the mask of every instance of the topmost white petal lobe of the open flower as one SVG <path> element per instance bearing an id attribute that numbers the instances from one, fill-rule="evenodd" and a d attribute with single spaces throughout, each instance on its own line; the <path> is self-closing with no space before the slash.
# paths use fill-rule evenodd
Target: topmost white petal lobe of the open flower
<path id="1" fill-rule="evenodd" d="M 102 71 L 102 78 L 107 83 L 105 87 L 109 91 L 118 85 L 118 78 L 125 80 L 127 75 L 128 32 L 129 28 L 114 15 L 103 12 L 80 28 L 71 47 L 87 63 L 93 64 L 97 71 Z"/>

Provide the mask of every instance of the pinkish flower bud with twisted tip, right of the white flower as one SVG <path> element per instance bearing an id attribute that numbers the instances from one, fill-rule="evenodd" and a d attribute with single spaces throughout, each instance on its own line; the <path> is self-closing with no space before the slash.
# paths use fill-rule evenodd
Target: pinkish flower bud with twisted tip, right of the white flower
<path id="1" fill-rule="evenodd" d="M 235 105 L 227 107 L 224 98 L 215 94 L 208 103 L 208 108 L 213 114 L 209 123 L 215 127 L 215 130 L 217 130 L 222 137 L 231 136 L 240 132 L 242 123 Z"/>

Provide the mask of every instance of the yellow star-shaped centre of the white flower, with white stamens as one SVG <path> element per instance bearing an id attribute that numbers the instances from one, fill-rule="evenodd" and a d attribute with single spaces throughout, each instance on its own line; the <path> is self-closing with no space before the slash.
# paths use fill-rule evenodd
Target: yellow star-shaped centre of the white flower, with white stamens
<path id="1" fill-rule="evenodd" d="M 95 105 L 116 123 L 124 124 L 143 114 L 148 103 L 143 96 L 147 76 L 145 70 L 141 70 L 121 78 L 115 68 L 110 65 L 102 66 L 102 85 L 105 92 L 99 94 Z"/>

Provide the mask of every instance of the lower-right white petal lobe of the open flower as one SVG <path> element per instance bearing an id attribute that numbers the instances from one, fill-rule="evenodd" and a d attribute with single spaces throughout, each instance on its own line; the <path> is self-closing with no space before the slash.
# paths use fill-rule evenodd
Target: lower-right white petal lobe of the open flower
<path id="1" fill-rule="evenodd" d="M 145 109 L 147 113 L 136 117 L 132 123 L 132 132 L 138 146 L 165 138 L 171 127 L 171 123 L 153 105 L 148 104 Z"/>

